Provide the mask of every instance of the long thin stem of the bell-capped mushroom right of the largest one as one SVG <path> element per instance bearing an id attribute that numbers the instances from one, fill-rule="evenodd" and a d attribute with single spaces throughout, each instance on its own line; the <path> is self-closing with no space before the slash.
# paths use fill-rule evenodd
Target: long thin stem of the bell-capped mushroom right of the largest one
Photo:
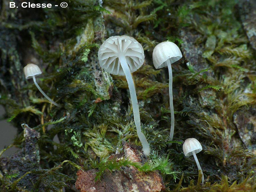
<path id="1" fill-rule="evenodd" d="M 172 141 L 173 139 L 173 133 L 174 133 L 174 109 L 173 109 L 173 97 L 172 97 L 172 66 L 170 59 L 167 59 L 167 66 L 169 71 L 169 97 L 170 97 L 170 110 L 171 110 L 171 131 L 170 131 L 170 137 L 169 141 Z M 169 146 L 171 143 L 169 143 Z"/>

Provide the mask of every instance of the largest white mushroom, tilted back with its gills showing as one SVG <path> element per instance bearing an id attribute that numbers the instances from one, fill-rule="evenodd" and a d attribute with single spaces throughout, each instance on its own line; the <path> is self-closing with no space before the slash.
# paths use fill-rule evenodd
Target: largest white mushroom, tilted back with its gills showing
<path id="1" fill-rule="evenodd" d="M 139 42 L 126 35 L 112 36 L 99 48 L 98 58 L 100 66 L 114 75 L 125 75 L 131 95 L 133 118 L 138 137 L 143 146 L 144 155 L 150 153 L 146 137 L 141 132 L 141 120 L 135 85 L 131 73 L 144 63 L 144 51 Z"/>

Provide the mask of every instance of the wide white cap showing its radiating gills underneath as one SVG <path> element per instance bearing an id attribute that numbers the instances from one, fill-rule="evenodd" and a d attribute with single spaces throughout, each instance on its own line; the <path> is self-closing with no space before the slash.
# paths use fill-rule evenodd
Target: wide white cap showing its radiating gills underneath
<path id="1" fill-rule="evenodd" d="M 100 46 L 99 63 L 102 68 L 114 75 L 125 75 L 118 56 L 123 54 L 131 73 L 144 63 L 144 50 L 139 42 L 127 35 L 112 36 Z"/>

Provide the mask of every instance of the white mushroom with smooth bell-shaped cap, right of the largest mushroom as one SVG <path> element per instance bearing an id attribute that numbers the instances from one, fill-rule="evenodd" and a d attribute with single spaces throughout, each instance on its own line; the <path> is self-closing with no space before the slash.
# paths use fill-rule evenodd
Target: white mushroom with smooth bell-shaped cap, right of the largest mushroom
<path id="1" fill-rule="evenodd" d="M 172 97 L 172 66 L 171 64 L 181 59 L 182 54 L 178 46 L 173 42 L 162 42 L 153 50 L 153 64 L 156 69 L 168 66 L 169 71 L 169 97 L 171 109 L 171 130 L 169 140 L 172 141 L 174 133 L 174 109 Z M 169 144 L 170 145 L 170 144 Z"/>

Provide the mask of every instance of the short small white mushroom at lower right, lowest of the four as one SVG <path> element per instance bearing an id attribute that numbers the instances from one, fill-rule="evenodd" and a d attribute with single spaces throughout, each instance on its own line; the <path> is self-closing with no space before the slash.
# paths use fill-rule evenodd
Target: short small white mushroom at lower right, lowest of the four
<path id="1" fill-rule="evenodd" d="M 183 148 L 183 153 L 186 157 L 191 155 L 194 156 L 198 170 L 201 171 L 201 174 L 202 174 L 202 183 L 204 183 L 205 177 L 196 155 L 202 150 L 202 145 L 199 143 L 197 139 L 188 138 L 184 141 L 182 148 Z"/>

